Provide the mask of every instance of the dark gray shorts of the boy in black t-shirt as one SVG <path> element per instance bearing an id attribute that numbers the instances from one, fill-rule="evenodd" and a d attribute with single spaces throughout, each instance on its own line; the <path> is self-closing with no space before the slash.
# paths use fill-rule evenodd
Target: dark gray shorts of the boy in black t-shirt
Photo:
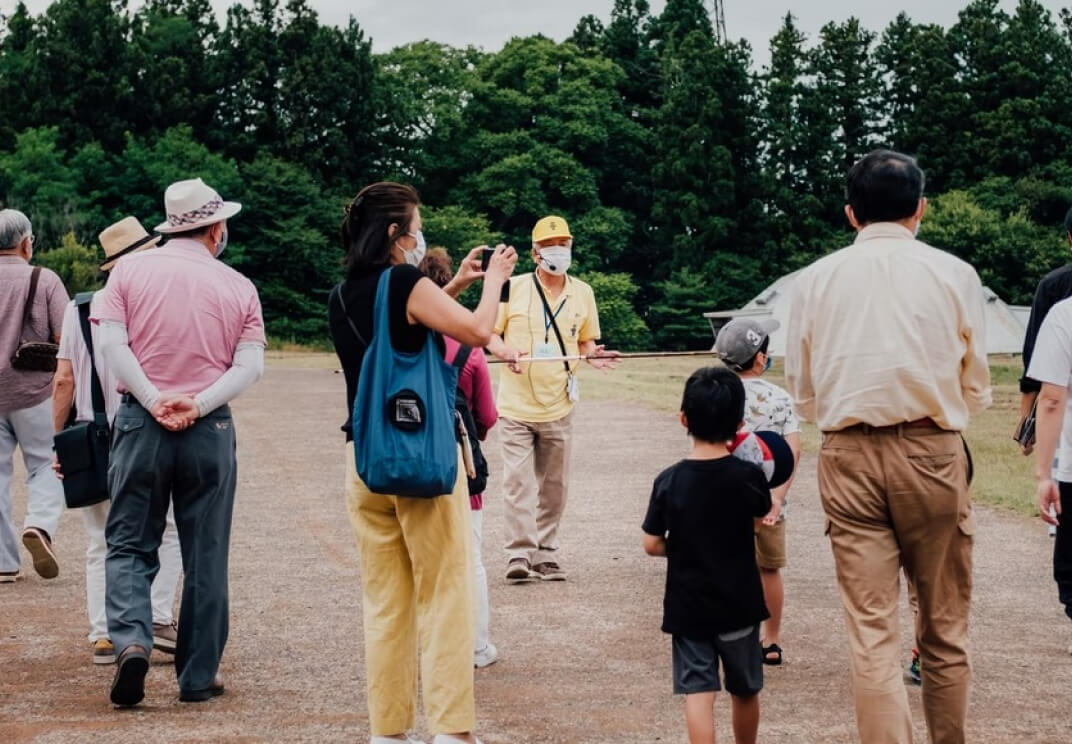
<path id="1" fill-rule="evenodd" d="M 710 641 L 673 637 L 673 691 L 675 695 L 717 693 L 718 661 L 726 676 L 726 691 L 750 698 L 763 689 L 763 650 L 759 625 L 724 633 Z"/>

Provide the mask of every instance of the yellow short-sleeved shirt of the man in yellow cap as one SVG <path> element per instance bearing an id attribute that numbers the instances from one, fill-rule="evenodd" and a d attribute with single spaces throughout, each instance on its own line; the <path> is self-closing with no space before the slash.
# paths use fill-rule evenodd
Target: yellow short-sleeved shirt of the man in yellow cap
<path id="1" fill-rule="evenodd" d="M 534 276 L 523 273 L 510 279 L 509 295 L 498 306 L 495 333 L 503 337 L 507 346 L 530 357 L 552 352 L 560 356 L 559 340 L 536 292 Z M 591 286 L 567 276 L 561 295 L 551 299 L 547 286 L 544 295 L 562 331 L 567 356 L 579 354 L 581 343 L 599 338 L 599 312 Z M 579 363 L 570 362 L 570 368 L 576 371 Z M 504 369 L 498 375 L 497 405 L 501 416 L 517 421 L 557 421 L 574 410 L 566 393 L 565 367 L 561 361 L 541 361 L 522 362 L 521 374 Z"/>

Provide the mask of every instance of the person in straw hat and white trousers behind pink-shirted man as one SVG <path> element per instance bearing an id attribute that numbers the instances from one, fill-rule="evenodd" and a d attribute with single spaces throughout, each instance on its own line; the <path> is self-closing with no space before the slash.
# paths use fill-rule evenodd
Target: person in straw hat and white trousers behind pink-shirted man
<path id="1" fill-rule="evenodd" d="M 105 256 L 101 271 L 107 277 L 116 262 L 131 253 L 153 248 L 160 242 L 160 236 L 146 233 L 137 219 L 128 217 L 105 228 L 101 233 L 100 241 Z M 101 308 L 101 294 L 78 295 L 68 304 L 63 314 L 60 348 L 56 358 L 56 380 L 53 385 L 53 426 L 57 432 L 66 427 L 72 406 L 76 421 L 93 419 L 90 389 L 94 374 L 104 393 L 104 407 L 109 423 L 115 420 L 116 412 L 119 410 L 119 391 L 115 376 L 101 363 L 100 331 L 96 328 L 90 329 L 95 351 L 92 359 L 81 334 L 78 313 L 79 307 L 87 302 L 89 313 L 95 315 Z M 59 472 L 58 462 L 56 468 Z M 92 644 L 93 664 L 111 664 L 116 660 L 115 646 L 108 639 L 108 623 L 104 612 L 104 559 L 107 553 L 104 529 L 110 505 L 110 501 L 105 501 L 79 509 L 87 537 L 86 606 L 89 611 L 89 642 Z M 177 634 L 173 612 L 175 590 L 182 571 L 182 554 L 179 552 L 179 536 L 172 509 L 167 511 L 167 527 L 164 530 L 158 554 L 160 572 L 152 581 L 152 646 L 165 654 L 174 654 Z"/>

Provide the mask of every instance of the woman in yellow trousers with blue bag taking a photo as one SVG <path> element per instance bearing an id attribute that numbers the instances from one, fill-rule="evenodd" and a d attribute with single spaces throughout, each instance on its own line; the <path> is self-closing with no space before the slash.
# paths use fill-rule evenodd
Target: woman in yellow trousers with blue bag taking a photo
<path id="1" fill-rule="evenodd" d="M 457 444 L 458 370 L 443 334 L 482 348 L 517 263 L 481 249 L 440 288 L 425 256 L 419 198 L 373 183 L 346 208 L 346 279 L 328 300 L 346 378 L 346 501 L 361 563 L 372 744 L 415 742 L 418 660 L 434 744 L 468 742 L 473 693 L 473 566 L 466 472 Z M 471 312 L 455 298 L 483 278 Z"/>

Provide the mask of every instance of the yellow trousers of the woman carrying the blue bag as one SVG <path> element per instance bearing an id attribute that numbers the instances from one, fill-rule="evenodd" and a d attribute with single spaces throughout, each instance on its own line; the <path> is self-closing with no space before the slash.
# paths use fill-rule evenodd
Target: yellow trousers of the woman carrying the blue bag
<path id="1" fill-rule="evenodd" d="M 476 726 L 473 697 L 473 563 L 468 488 L 459 453 L 453 493 L 406 499 L 372 493 L 346 445 L 346 501 L 361 560 L 369 728 L 416 724 L 417 666 L 432 734 Z"/>

